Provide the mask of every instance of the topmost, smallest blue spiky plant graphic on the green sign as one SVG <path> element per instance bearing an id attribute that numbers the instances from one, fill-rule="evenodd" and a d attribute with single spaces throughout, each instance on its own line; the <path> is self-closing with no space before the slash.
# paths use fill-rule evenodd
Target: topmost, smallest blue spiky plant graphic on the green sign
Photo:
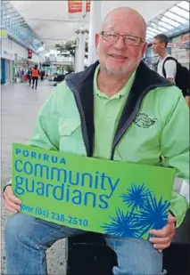
<path id="1" fill-rule="evenodd" d="M 145 188 L 145 183 L 137 186 L 135 183 L 131 184 L 131 188 L 127 192 L 121 194 L 122 202 L 127 206 L 132 206 L 131 212 L 134 213 L 138 208 L 144 208 L 145 203 L 150 195 L 150 190 Z"/>

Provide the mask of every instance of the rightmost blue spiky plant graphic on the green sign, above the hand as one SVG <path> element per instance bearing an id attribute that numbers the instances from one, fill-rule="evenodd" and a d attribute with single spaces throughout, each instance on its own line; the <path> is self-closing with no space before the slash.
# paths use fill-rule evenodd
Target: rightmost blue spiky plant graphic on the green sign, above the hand
<path id="1" fill-rule="evenodd" d="M 158 230 L 163 228 L 168 220 L 168 210 L 169 201 L 165 200 L 162 202 L 162 197 L 157 201 L 155 196 L 150 194 L 144 208 L 141 209 L 140 214 L 137 214 L 138 222 L 136 226 L 141 226 L 144 229 L 141 236 L 151 229 Z"/>

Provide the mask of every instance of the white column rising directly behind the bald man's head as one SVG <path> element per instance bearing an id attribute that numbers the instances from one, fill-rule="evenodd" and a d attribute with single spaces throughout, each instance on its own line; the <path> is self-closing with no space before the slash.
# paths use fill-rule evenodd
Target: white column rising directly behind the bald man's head
<path id="1" fill-rule="evenodd" d="M 88 38 L 88 66 L 97 60 L 95 50 L 95 33 L 100 32 L 102 26 L 102 1 L 91 1 L 90 4 L 91 11 Z"/>

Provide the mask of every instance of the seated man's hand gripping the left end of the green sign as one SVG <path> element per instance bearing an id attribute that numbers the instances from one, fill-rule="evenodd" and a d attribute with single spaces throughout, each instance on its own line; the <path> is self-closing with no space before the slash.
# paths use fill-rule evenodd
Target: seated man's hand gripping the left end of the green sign
<path id="1" fill-rule="evenodd" d="M 12 186 L 7 186 L 4 190 L 4 206 L 6 210 L 17 213 L 20 210 L 21 199 L 14 196 Z"/>

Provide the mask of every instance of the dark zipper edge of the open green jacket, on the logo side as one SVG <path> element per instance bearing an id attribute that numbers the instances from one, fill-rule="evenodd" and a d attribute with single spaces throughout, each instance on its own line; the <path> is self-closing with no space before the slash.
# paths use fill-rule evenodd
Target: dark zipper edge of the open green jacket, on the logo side
<path id="1" fill-rule="evenodd" d="M 170 84 L 169 84 L 170 85 Z M 157 87 L 165 87 L 165 86 L 169 86 L 169 85 L 150 85 L 149 87 L 147 87 L 145 89 L 145 91 L 141 94 L 141 96 L 139 97 L 137 103 L 136 103 L 136 109 L 133 111 L 133 113 L 131 114 L 131 116 L 129 117 L 129 119 L 127 120 L 126 124 L 127 127 L 125 127 L 125 130 L 123 131 L 123 133 L 120 133 L 120 136 L 116 135 L 117 141 L 113 142 L 112 144 L 112 154 L 111 154 L 111 160 L 113 160 L 114 157 L 114 151 L 116 149 L 116 146 L 118 145 L 118 143 L 120 142 L 120 139 L 122 138 L 123 134 L 126 133 L 128 131 L 128 127 L 132 124 L 132 122 L 134 121 L 140 107 L 141 107 L 141 103 L 145 97 L 145 95 L 147 93 L 150 93 L 154 88 Z"/>

